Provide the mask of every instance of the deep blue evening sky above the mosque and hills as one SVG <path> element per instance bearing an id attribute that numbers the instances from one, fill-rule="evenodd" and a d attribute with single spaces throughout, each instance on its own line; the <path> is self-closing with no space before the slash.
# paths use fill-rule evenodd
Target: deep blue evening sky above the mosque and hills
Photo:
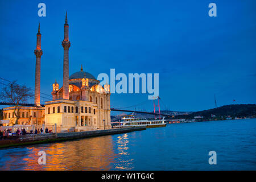
<path id="1" fill-rule="evenodd" d="M 41 2 L 46 17 L 38 16 Z M 216 17 L 208 15 L 212 2 Z M 69 75 L 81 64 L 96 78 L 112 68 L 116 74 L 159 73 L 161 110 L 211 109 L 214 94 L 217 106 L 256 104 L 255 5 L 254 0 L 0 1 L 0 77 L 34 89 L 40 22 L 41 92 L 51 95 L 55 79 L 62 86 L 67 11 Z M 147 98 L 148 93 L 115 93 L 110 105 L 152 111 Z"/>

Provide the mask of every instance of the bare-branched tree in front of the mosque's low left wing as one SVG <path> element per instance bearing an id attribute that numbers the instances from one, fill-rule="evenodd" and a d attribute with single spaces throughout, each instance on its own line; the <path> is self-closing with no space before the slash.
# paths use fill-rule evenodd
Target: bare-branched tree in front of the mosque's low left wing
<path id="1" fill-rule="evenodd" d="M 14 114 L 16 117 L 15 125 L 18 125 L 18 121 L 20 118 L 19 115 L 19 104 L 22 102 L 26 102 L 29 98 L 32 98 L 34 94 L 32 94 L 31 89 L 27 88 L 26 85 L 19 85 L 16 81 L 13 81 L 3 88 L 3 91 L 0 93 L 1 100 L 5 100 L 7 102 L 11 102 L 15 105 Z"/>

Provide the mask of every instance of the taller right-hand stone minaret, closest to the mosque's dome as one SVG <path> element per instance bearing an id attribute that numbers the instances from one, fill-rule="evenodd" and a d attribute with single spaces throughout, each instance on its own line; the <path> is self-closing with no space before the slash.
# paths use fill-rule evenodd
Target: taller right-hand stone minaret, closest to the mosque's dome
<path id="1" fill-rule="evenodd" d="M 64 49 L 64 59 L 63 59 L 63 98 L 69 100 L 68 92 L 68 81 L 69 81 L 69 64 L 68 64 L 68 49 L 70 47 L 70 42 L 68 40 L 68 16 L 66 11 L 66 19 L 64 24 L 64 40 L 62 42 Z"/>

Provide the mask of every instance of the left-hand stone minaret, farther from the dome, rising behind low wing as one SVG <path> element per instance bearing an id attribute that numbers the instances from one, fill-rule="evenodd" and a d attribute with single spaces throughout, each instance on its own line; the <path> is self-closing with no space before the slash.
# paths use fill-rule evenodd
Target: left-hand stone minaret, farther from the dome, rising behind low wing
<path id="1" fill-rule="evenodd" d="M 36 73 L 35 73 L 35 105 L 40 106 L 40 75 L 41 75 L 41 56 L 43 51 L 41 49 L 41 34 L 40 23 L 38 26 L 38 34 L 36 34 L 36 49 L 34 51 L 36 55 Z"/>

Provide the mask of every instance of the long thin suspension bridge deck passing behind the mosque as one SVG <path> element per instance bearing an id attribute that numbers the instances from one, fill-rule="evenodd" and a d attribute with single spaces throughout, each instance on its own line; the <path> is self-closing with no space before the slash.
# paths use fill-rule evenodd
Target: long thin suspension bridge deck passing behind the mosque
<path id="1" fill-rule="evenodd" d="M 0 105 L 5 105 L 5 106 L 15 106 L 15 104 L 10 103 L 10 102 L 0 102 Z M 36 106 L 35 104 L 24 104 L 20 103 L 19 106 Z M 44 105 L 42 105 L 44 106 Z M 159 114 L 159 113 L 150 113 L 146 111 L 136 111 L 136 110 L 124 110 L 124 109 L 114 109 L 110 108 L 111 111 L 121 111 L 121 112 L 127 112 L 127 113 L 142 113 L 142 114 L 152 114 L 152 115 L 162 115 L 164 117 L 172 117 L 170 114 Z"/>

